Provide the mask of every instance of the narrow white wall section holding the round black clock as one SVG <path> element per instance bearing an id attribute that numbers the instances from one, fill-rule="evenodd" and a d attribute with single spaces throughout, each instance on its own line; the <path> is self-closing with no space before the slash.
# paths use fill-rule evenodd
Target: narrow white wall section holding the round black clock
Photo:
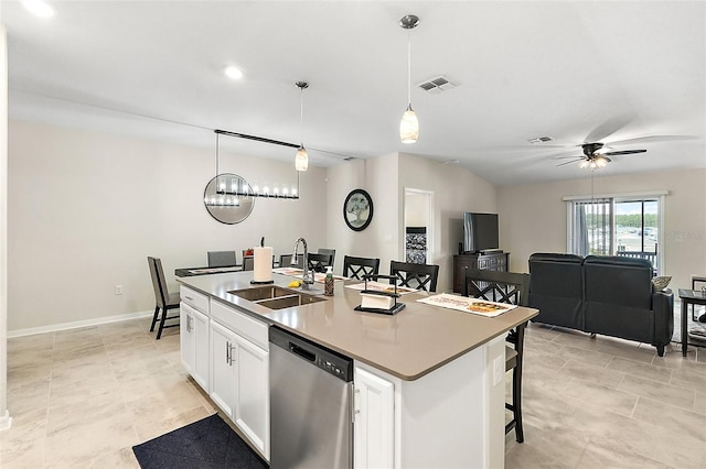
<path id="1" fill-rule="evenodd" d="M 397 259 L 400 242 L 399 192 L 396 153 L 354 160 L 328 170 L 329 248 L 335 249 L 334 272 L 343 271 L 343 257 L 379 258 L 381 273 Z M 343 220 L 343 201 L 353 189 L 365 189 L 373 199 L 373 220 L 363 231 L 351 230 Z"/>

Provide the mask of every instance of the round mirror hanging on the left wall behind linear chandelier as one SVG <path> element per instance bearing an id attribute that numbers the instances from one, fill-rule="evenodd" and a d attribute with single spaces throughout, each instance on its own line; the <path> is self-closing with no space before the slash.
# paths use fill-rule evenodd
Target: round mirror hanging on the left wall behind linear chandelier
<path id="1" fill-rule="evenodd" d="M 247 181 L 237 174 L 222 173 L 206 184 L 203 204 L 208 214 L 226 225 L 245 220 L 253 211 L 255 198 Z"/>

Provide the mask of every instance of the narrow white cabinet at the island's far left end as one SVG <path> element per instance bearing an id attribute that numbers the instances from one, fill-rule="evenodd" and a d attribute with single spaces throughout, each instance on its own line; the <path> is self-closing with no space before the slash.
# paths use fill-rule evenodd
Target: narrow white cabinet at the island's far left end
<path id="1" fill-rule="evenodd" d="M 179 308 L 179 340 L 182 363 L 194 381 L 207 392 L 210 374 L 208 316 L 185 303 L 181 303 Z"/>

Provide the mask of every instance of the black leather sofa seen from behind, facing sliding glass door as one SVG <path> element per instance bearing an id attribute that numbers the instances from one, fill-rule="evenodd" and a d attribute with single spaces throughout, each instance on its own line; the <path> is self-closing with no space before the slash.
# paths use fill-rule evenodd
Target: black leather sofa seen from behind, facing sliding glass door
<path id="1" fill-rule="evenodd" d="M 644 259 L 532 254 L 530 306 L 533 321 L 651 343 L 660 357 L 674 331 L 674 295 L 653 292 Z"/>

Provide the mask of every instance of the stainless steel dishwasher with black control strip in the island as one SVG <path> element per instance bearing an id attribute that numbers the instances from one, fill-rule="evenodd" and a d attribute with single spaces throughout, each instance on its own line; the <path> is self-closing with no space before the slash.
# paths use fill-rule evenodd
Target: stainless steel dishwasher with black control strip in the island
<path id="1" fill-rule="evenodd" d="M 270 468 L 353 467 L 353 360 L 269 329 Z"/>

